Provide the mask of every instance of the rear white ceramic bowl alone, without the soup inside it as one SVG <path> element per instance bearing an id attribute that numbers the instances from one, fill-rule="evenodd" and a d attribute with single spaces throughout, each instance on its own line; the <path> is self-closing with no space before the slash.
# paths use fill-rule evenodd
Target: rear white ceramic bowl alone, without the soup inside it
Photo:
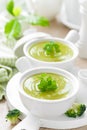
<path id="1" fill-rule="evenodd" d="M 32 56 L 29 55 L 28 49 L 32 44 L 36 44 L 37 42 L 41 41 L 58 41 L 63 44 L 68 45 L 72 51 L 73 51 L 73 56 L 70 59 L 63 60 L 63 61 L 58 61 L 58 62 L 45 62 L 45 61 L 40 61 Z M 35 40 L 30 40 L 28 43 L 24 45 L 23 48 L 24 55 L 28 59 L 29 63 L 31 64 L 32 67 L 58 67 L 66 70 L 70 70 L 74 64 L 75 59 L 78 56 L 78 48 L 70 41 L 66 41 L 64 39 L 56 38 L 56 37 L 49 37 L 49 38 L 40 38 L 40 39 L 35 39 Z M 26 62 L 23 61 L 23 64 L 26 64 Z"/>

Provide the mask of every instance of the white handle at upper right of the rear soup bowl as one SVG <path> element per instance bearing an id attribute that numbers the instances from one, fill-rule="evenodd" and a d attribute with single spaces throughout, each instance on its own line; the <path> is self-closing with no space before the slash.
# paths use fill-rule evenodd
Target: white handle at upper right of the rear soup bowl
<path id="1" fill-rule="evenodd" d="M 79 40 L 79 33 L 76 30 L 71 30 L 67 36 L 65 37 L 66 41 L 71 41 L 73 43 L 76 43 Z"/>

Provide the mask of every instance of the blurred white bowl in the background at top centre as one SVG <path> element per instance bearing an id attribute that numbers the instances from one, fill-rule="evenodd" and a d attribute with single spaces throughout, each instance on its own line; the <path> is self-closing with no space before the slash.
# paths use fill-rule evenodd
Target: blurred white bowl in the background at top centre
<path id="1" fill-rule="evenodd" d="M 29 12 L 32 10 L 52 20 L 60 13 L 63 0 L 25 0 Z"/>

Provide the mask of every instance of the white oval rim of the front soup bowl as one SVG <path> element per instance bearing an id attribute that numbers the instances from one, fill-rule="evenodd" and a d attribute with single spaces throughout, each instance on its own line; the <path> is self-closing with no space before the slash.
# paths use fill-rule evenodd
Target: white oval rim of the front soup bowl
<path id="1" fill-rule="evenodd" d="M 31 74 L 32 72 L 33 72 L 33 74 Z M 73 85 L 73 89 L 71 90 L 72 91 L 71 94 L 68 95 L 65 98 L 56 99 L 56 100 L 48 100 L 48 99 L 35 98 L 35 97 L 31 96 L 31 95 L 28 95 L 26 92 L 24 92 L 23 87 L 22 87 L 23 81 L 29 76 L 32 76 L 32 75 L 38 74 L 38 73 L 43 73 L 43 72 L 48 72 L 48 73 L 50 72 L 50 73 L 60 74 L 60 75 L 65 76 L 66 78 L 68 78 L 71 81 L 72 85 Z M 48 102 L 48 103 L 56 103 L 56 102 L 66 101 L 66 100 L 72 98 L 73 96 L 75 96 L 77 94 L 78 90 L 79 90 L 79 83 L 78 83 L 77 78 L 73 74 L 71 74 L 70 72 L 68 72 L 66 70 L 63 70 L 63 69 L 60 69 L 60 68 L 56 68 L 56 67 L 39 67 L 39 68 L 37 67 L 37 68 L 33 68 L 31 70 L 28 70 L 28 71 L 24 72 L 20 77 L 19 87 L 18 87 L 19 93 L 21 93 L 25 97 L 36 100 L 38 102 Z"/>

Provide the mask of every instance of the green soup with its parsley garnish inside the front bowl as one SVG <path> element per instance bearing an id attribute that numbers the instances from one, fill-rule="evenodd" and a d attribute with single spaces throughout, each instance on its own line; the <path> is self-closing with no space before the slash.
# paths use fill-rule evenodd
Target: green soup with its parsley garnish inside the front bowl
<path id="1" fill-rule="evenodd" d="M 39 99 L 56 100 L 70 94 L 72 84 L 69 79 L 54 73 L 39 73 L 23 82 L 23 90 Z"/>

